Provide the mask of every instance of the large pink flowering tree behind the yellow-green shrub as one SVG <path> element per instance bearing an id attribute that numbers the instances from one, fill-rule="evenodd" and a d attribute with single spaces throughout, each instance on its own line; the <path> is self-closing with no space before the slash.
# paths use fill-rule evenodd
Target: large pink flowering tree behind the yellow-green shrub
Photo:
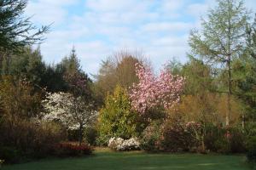
<path id="1" fill-rule="evenodd" d="M 141 64 L 136 64 L 136 73 L 139 79 L 131 87 L 131 106 L 141 115 L 155 108 L 172 108 L 180 99 L 183 90 L 184 78 L 172 76 L 167 69 L 160 71 L 155 77 L 153 71 Z"/>

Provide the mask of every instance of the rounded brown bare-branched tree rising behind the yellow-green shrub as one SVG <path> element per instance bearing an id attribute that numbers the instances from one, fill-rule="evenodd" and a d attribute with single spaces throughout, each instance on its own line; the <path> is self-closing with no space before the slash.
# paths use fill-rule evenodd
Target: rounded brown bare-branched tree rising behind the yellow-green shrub
<path id="1" fill-rule="evenodd" d="M 133 83 L 138 82 L 135 71 L 135 64 L 147 64 L 143 54 L 130 51 L 119 51 L 102 61 L 101 68 L 96 75 L 97 98 L 102 100 L 108 93 L 113 93 L 114 88 L 120 85 L 122 88 L 129 88 Z"/>

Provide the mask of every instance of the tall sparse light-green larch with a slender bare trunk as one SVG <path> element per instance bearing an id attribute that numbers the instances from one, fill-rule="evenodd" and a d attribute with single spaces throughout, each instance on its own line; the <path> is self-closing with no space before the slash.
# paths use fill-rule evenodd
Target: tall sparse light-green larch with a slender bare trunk
<path id="1" fill-rule="evenodd" d="M 200 31 L 191 31 L 189 45 L 195 54 L 224 68 L 228 86 L 228 111 L 226 125 L 230 124 L 230 99 L 232 95 L 231 64 L 245 47 L 248 13 L 243 2 L 217 0 L 218 6 L 209 11 L 207 20 L 202 20 Z"/>

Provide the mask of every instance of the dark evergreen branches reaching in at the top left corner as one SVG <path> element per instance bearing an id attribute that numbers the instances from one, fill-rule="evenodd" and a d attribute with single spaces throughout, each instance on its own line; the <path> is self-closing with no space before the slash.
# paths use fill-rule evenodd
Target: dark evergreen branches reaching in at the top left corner
<path id="1" fill-rule="evenodd" d="M 44 39 L 49 26 L 38 29 L 24 17 L 27 0 L 0 0 L 0 52 L 17 52 Z"/>

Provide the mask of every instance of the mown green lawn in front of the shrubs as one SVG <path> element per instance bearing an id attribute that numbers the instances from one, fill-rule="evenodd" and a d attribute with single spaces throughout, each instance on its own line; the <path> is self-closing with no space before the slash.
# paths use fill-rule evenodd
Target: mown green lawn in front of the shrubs
<path id="1" fill-rule="evenodd" d="M 96 150 L 93 156 L 45 159 L 25 164 L 4 166 L 1 170 L 242 170 L 244 156 L 198 154 L 147 154 L 143 152 L 110 152 Z"/>

